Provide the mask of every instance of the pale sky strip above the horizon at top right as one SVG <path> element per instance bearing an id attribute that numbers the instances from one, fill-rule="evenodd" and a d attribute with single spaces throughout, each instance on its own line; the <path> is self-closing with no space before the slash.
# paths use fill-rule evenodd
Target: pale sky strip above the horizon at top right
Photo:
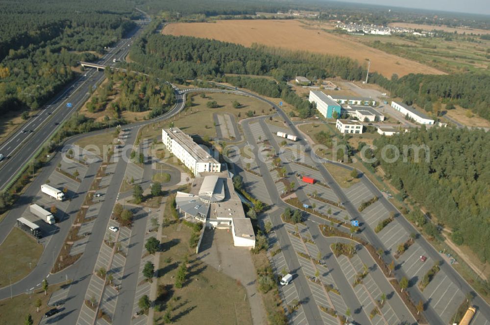
<path id="1" fill-rule="evenodd" d="M 489 0 L 341 0 L 384 6 L 465 12 L 490 15 Z"/>

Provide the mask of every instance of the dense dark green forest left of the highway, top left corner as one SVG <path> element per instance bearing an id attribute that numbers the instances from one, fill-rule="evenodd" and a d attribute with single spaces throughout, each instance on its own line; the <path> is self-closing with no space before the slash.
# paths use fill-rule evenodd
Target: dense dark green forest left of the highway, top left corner
<path id="1" fill-rule="evenodd" d="M 127 1 L 0 1 L 0 114 L 36 109 L 134 27 Z"/>

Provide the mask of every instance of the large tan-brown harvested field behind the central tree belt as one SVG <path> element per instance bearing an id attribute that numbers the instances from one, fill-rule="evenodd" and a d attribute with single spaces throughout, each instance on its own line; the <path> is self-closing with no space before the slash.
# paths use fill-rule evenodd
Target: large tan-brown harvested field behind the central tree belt
<path id="1" fill-rule="evenodd" d="M 371 60 L 371 71 L 390 78 L 408 73 L 443 74 L 423 64 L 385 53 L 359 42 L 349 35 L 325 31 L 323 25 L 304 24 L 297 20 L 230 20 L 216 23 L 171 23 L 162 33 L 195 36 L 251 46 L 252 43 L 293 50 L 348 56 L 364 64 Z"/>

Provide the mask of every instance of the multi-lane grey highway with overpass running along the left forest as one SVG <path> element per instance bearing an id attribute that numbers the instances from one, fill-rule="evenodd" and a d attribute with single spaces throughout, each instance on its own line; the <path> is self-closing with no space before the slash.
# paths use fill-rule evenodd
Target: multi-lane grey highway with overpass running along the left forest
<path id="1" fill-rule="evenodd" d="M 113 63 L 113 59 L 123 60 L 129 51 L 131 38 L 139 32 L 140 27 L 136 27 L 110 48 L 97 63 L 107 66 Z M 87 70 L 65 87 L 36 116 L 30 117 L 22 128 L 0 144 L 0 154 L 6 157 L 0 162 L 0 190 L 18 174 L 43 143 L 61 127 L 61 124 L 83 105 L 89 97 L 90 88 L 101 82 L 103 78 L 103 71 Z"/>

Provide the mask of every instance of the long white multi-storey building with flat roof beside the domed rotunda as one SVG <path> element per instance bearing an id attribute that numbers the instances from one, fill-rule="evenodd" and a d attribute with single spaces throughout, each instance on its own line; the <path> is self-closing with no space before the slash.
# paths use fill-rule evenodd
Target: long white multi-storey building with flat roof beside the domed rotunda
<path id="1" fill-rule="evenodd" d="M 162 142 L 194 175 L 206 171 L 221 172 L 221 163 L 179 128 L 163 129 Z"/>

